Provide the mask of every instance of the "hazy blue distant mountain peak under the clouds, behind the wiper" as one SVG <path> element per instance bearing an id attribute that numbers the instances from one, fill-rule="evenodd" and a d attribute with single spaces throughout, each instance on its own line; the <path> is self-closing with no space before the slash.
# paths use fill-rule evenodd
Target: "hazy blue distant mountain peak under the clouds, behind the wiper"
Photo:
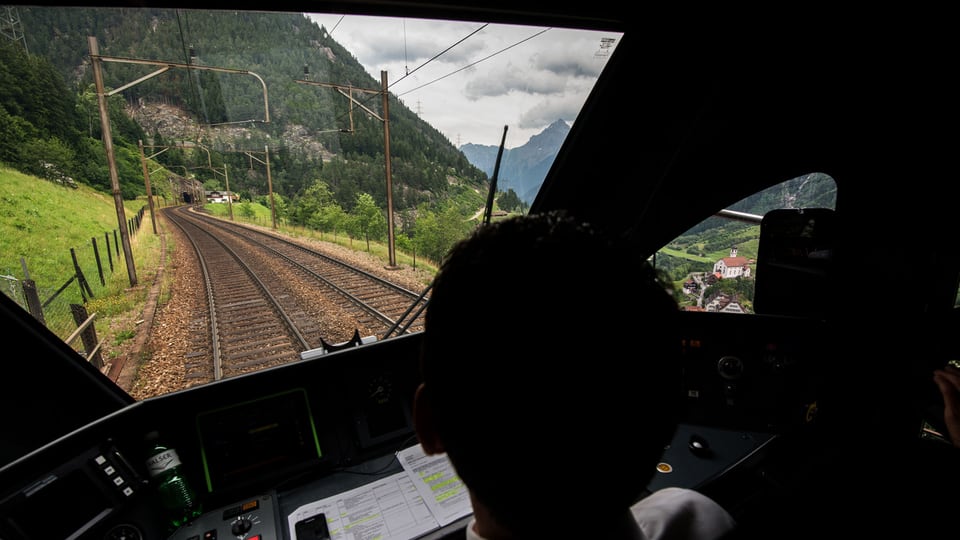
<path id="1" fill-rule="evenodd" d="M 526 204 L 532 203 L 569 132 L 570 126 L 563 120 L 557 120 L 530 137 L 523 146 L 504 149 L 497 176 L 497 190 L 512 189 L 520 200 Z M 499 146 L 469 143 L 461 146 L 460 151 L 467 161 L 493 179 Z"/>

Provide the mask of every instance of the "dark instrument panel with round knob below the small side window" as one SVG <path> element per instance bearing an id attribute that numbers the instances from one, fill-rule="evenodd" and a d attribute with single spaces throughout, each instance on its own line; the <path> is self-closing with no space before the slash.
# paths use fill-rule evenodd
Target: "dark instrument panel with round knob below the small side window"
<path id="1" fill-rule="evenodd" d="M 686 421 L 781 432 L 816 420 L 829 326 L 779 315 L 684 312 Z"/>

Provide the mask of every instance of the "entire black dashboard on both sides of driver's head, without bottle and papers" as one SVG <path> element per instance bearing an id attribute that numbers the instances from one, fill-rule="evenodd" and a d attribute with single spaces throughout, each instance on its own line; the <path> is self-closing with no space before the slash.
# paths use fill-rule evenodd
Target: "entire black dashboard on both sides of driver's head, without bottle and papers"
<path id="1" fill-rule="evenodd" d="M 683 316 L 688 408 L 664 452 L 672 474 L 658 474 L 651 488 L 706 489 L 747 463 L 762 466 L 779 434 L 815 419 L 821 323 Z M 297 505 L 399 470 L 396 453 L 416 444 L 419 344 L 420 334 L 369 342 L 129 405 L 0 469 L 0 536 L 289 537 L 285 516 Z M 206 513 L 179 531 L 152 511 L 159 503 L 143 463 L 150 431 L 177 449 L 203 501 Z"/>

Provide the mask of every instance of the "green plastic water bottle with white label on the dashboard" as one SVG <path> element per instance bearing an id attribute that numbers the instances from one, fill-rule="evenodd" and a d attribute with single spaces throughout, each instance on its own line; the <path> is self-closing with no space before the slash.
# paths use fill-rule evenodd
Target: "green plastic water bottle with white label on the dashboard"
<path id="1" fill-rule="evenodd" d="M 177 451 L 164 446 L 156 431 L 148 433 L 146 441 L 147 471 L 150 473 L 151 481 L 157 487 L 160 502 L 167 511 L 170 525 L 176 529 L 200 516 L 203 508 L 197 493 L 183 474 Z"/>

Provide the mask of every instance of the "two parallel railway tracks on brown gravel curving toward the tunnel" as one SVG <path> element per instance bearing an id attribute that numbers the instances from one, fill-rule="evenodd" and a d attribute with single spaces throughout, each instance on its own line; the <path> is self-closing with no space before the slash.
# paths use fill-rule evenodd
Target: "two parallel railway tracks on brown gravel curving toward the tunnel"
<path id="1" fill-rule="evenodd" d="M 277 234 L 189 207 L 163 211 L 189 239 L 203 275 L 205 307 L 184 330 L 193 384 L 298 361 L 304 351 L 360 336 L 422 329 L 424 293 Z"/>

